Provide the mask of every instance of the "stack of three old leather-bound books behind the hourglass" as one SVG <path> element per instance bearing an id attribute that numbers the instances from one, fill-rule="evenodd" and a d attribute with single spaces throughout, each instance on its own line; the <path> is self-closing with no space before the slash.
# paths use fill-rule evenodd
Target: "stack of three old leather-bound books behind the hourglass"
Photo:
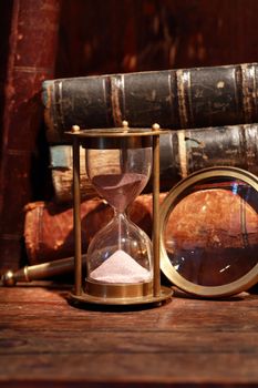
<path id="1" fill-rule="evenodd" d="M 54 198 L 27 206 L 29 261 L 73 255 L 72 149 L 64 136 L 72 125 L 115 127 L 127 120 L 131 127 L 158 123 L 169 129 L 161 137 L 162 201 L 177 182 L 204 167 L 237 166 L 258 173 L 257 85 L 257 63 L 45 81 L 42 98 Z M 84 162 L 81 166 L 85 252 L 94 233 L 111 219 L 111 210 L 91 186 Z M 148 234 L 149 192 L 147 186 L 131 208 L 132 219 Z"/>

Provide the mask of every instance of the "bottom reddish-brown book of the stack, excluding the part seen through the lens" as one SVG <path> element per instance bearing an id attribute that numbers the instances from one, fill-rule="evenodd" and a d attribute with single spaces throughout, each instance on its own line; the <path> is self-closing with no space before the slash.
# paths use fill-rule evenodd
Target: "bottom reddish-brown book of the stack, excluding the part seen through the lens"
<path id="1" fill-rule="evenodd" d="M 161 201 L 165 194 L 161 194 Z M 130 208 L 130 217 L 148 235 L 151 223 L 152 195 L 138 196 Z M 113 211 L 101 198 L 82 202 L 82 251 L 95 233 L 112 219 Z M 24 219 L 25 249 L 30 264 L 73 256 L 73 211 L 54 202 L 35 202 L 25 206 Z"/>

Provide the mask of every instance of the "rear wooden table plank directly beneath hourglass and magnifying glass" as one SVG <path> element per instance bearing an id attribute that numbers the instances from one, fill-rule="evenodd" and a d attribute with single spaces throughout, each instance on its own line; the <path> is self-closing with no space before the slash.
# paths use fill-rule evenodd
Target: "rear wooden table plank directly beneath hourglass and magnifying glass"
<path id="1" fill-rule="evenodd" d="M 0 289 L 1 292 L 2 289 Z M 190 298 L 173 298 L 171 304 L 159 308 L 134 312 L 115 312 L 103 309 L 76 309 L 65 299 L 65 292 L 60 294 L 51 289 L 12 288 L 8 295 L 0 293 L 0 327 L 27 329 L 27 315 L 31 329 L 49 328 L 60 330 L 70 328 L 71 317 L 73 330 L 258 330 L 257 295 L 242 294 L 228 300 L 203 300 Z M 7 308 L 8 307 L 8 308 Z M 89 306 L 91 308 L 91 306 Z M 43 314 L 42 314 L 43 313 Z M 100 319 L 100 316 L 105 319 Z M 60 319 L 62 316 L 62 319 Z"/>

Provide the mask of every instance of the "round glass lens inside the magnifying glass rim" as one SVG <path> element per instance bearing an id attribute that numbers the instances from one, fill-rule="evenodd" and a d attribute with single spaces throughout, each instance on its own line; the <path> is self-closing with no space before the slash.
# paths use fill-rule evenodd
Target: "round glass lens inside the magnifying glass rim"
<path id="1" fill-rule="evenodd" d="M 188 188 L 164 229 L 176 272 L 200 286 L 239 279 L 258 263 L 258 195 L 236 178 L 214 178 Z"/>

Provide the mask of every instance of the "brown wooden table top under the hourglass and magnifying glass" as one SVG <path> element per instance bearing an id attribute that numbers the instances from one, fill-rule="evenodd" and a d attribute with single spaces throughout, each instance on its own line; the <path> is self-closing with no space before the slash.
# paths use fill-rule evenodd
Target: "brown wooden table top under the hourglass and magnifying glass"
<path id="1" fill-rule="evenodd" d="M 133 312 L 66 294 L 0 288 L 1 387 L 258 387 L 256 294 Z"/>

